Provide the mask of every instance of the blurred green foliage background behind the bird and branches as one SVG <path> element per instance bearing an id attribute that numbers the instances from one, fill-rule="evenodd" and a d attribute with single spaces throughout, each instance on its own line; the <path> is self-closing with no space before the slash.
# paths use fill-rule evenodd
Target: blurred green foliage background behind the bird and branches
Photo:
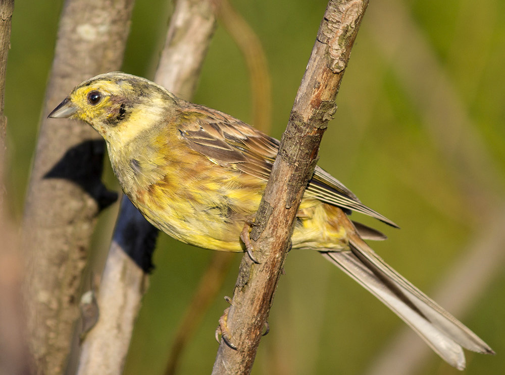
<path id="1" fill-rule="evenodd" d="M 271 135 L 278 138 L 326 2 L 233 0 L 232 5 L 265 48 Z M 13 16 L 6 114 L 8 189 L 18 220 L 61 8 L 62 1 L 25 0 L 16 3 Z M 153 78 L 171 9 L 166 1 L 137 2 L 123 71 Z M 389 236 L 373 247 L 430 295 L 458 259 L 482 245 L 486 231 L 492 237 L 493 226 L 498 225 L 497 236 L 505 230 L 499 227 L 505 216 L 504 67 L 504 2 L 372 1 L 340 88 L 339 109 L 323 139 L 319 164 L 402 228 L 360 217 Z M 221 26 L 194 101 L 251 121 L 244 60 Z M 108 160 L 106 170 L 106 183 L 118 190 Z M 98 225 L 98 259 L 108 248 L 116 210 L 117 205 L 103 213 Z M 489 281 L 457 315 L 497 352 L 494 357 L 467 352 L 468 374 L 505 369 L 505 246 L 498 248 L 485 256 L 494 257 L 496 266 L 487 273 Z M 126 374 L 163 373 L 179 320 L 211 257 L 160 236 Z M 233 292 L 240 258 L 184 352 L 180 374 L 210 373 L 218 346 L 214 330 L 226 307 L 222 296 Z M 285 271 L 254 374 L 368 373 L 404 329 L 394 314 L 317 254 L 290 253 Z M 454 296 L 466 293 L 462 287 Z M 459 373 L 435 354 L 427 358 L 416 373 Z"/>

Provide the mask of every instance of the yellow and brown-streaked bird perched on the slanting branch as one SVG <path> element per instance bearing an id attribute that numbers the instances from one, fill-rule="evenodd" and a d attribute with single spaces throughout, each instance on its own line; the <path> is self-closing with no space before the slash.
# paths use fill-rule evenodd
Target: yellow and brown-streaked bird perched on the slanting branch
<path id="1" fill-rule="evenodd" d="M 194 246 L 246 250 L 241 233 L 259 207 L 279 141 L 229 114 L 121 72 L 77 85 L 48 117 L 83 120 L 105 139 L 123 192 L 155 227 Z M 465 368 L 463 348 L 494 354 L 386 264 L 365 241 L 385 236 L 352 221 L 352 212 L 397 227 L 317 166 L 296 215 L 292 248 L 322 254 L 450 365 Z"/>

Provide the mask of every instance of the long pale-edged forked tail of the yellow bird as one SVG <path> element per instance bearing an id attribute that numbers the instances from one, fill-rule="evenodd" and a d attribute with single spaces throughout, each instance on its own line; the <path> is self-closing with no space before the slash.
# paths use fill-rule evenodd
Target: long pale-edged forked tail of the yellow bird
<path id="1" fill-rule="evenodd" d="M 357 234 L 351 235 L 349 247 L 321 254 L 393 310 L 447 363 L 465 368 L 462 346 L 494 354 L 475 333 L 388 266 Z"/>

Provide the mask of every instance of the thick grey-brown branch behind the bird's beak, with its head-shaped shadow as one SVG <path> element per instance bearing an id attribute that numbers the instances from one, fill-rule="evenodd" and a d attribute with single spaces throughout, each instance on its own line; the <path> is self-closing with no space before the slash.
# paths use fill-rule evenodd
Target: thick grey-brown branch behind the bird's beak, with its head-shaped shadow
<path id="1" fill-rule="evenodd" d="M 121 66 L 133 0 L 67 0 L 42 110 L 24 212 L 28 335 L 37 372 L 66 366 L 81 274 L 100 209 L 104 143 L 84 122 L 45 116 L 79 82 Z"/>

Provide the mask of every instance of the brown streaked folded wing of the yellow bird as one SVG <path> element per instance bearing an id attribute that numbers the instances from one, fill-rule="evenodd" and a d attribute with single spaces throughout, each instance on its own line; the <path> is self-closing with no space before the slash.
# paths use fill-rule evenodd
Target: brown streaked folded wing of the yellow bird
<path id="1" fill-rule="evenodd" d="M 196 104 L 187 104 L 176 119 L 180 135 L 188 145 L 214 162 L 268 180 L 279 150 L 279 141 L 226 113 Z M 397 225 L 365 206 L 340 181 L 316 167 L 307 192 L 313 197 L 344 209 Z"/>

